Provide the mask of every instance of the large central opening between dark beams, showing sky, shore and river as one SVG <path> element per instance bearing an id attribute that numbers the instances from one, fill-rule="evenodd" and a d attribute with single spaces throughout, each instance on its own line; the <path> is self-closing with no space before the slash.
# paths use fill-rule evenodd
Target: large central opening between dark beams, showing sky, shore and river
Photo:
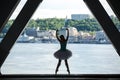
<path id="1" fill-rule="evenodd" d="M 1 73 L 55 74 L 58 59 L 53 54 L 60 48 L 55 33 L 66 19 L 71 74 L 120 74 L 118 54 L 82 0 L 43 0 L 11 49 Z M 67 74 L 63 61 L 58 74 Z"/>

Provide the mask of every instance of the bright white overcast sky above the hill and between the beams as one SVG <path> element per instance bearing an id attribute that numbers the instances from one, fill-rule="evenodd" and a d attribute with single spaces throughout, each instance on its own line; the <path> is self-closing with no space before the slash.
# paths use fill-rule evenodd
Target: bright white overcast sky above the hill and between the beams
<path id="1" fill-rule="evenodd" d="M 27 0 L 21 0 L 18 7 L 14 11 L 11 19 L 15 19 Z M 112 10 L 108 6 L 106 0 L 100 0 L 108 11 L 109 15 L 113 15 Z M 83 0 L 43 0 L 36 12 L 32 16 L 37 18 L 71 18 L 71 14 L 91 14 Z"/>

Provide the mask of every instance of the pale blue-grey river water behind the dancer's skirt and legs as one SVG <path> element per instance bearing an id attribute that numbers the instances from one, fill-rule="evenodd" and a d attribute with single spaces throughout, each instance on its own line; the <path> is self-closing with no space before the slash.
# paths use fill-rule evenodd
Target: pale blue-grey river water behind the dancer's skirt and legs
<path id="1" fill-rule="evenodd" d="M 54 74 L 59 44 L 16 43 L 5 60 L 2 74 Z M 120 57 L 111 44 L 68 44 L 71 74 L 120 74 Z M 67 74 L 62 61 L 58 74 Z"/>

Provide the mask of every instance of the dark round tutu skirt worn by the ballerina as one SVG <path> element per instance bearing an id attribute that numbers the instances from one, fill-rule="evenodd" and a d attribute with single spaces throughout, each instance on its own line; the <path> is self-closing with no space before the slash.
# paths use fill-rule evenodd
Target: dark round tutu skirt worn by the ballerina
<path id="1" fill-rule="evenodd" d="M 72 56 L 72 52 L 68 49 L 66 50 L 58 50 L 54 53 L 55 58 L 60 59 L 60 60 L 65 60 L 68 59 Z"/>

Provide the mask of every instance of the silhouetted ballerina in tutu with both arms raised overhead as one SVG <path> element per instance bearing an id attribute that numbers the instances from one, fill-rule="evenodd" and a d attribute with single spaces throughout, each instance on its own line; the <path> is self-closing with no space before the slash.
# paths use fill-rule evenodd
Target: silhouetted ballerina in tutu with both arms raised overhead
<path id="1" fill-rule="evenodd" d="M 54 53 L 54 56 L 58 59 L 58 64 L 57 64 L 57 67 L 55 70 L 55 74 L 57 74 L 62 60 L 65 61 L 65 65 L 67 67 L 68 74 L 70 74 L 67 59 L 72 56 L 72 52 L 70 50 L 66 49 L 67 41 L 68 41 L 68 37 L 69 37 L 69 30 L 67 28 L 66 28 L 66 30 L 67 30 L 66 39 L 64 38 L 63 35 L 60 35 L 60 37 L 58 37 L 58 30 L 56 30 L 56 37 L 57 37 L 58 41 L 60 42 L 61 48 Z"/>

